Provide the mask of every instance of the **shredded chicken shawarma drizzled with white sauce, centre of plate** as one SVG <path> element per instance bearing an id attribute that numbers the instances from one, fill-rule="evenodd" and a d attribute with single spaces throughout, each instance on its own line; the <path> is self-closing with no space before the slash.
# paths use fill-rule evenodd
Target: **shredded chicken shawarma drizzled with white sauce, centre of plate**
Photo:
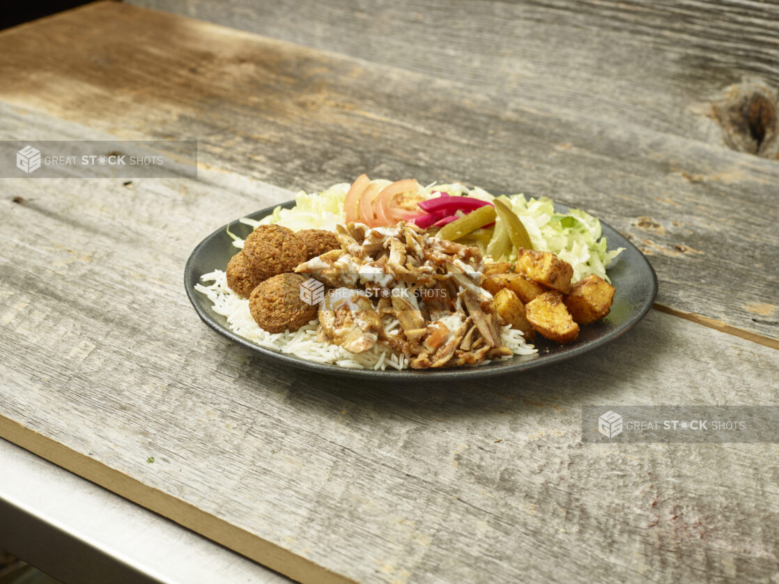
<path id="1" fill-rule="evenodd" d="M 340 249 L 295 269 L 330 287 L 319 304 L 319 339 L 355 354 L 386 343 L 412 368 L 513 354 L 501 343 L 492 295 L 481 288 L 478 248 L 430 237 L 403 221 L 394 227 L 339 225 L 336 236 Z"/>

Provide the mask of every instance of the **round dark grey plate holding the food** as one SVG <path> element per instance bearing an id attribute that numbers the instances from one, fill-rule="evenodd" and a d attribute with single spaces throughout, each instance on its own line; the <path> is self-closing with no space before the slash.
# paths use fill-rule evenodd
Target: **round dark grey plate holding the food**
<path id="1" fill-rule="evenodd" d="M 294 206 L 294 201 L 285 202 L 282 206 L 287 209 L 291 208 Z M 262 219 L 264 216 L 270 215 L 273 212 L 273 208 L 268 207 L 267 209 L 252 213 L 249 215 L 249 218 L 254 220 Z M 567 211 L 567 208 L 562 205 L 555 205 L 555 209 L 560 213 Z M 609 249 L 625 248 L 625 251 L 619 254 L 608 268 L 608 276 L 617 290 L 612 311 L 609 312 L 608 316 L 591 325 L 583 326 L 579 332 L 579 338 L 573 341 L 573 343 L 559 345 L 547 341 L 541 336 L 536 336 L 537 342 L 534 344 L 538 348 L 538 354 L 517 355 L 506 361 L 494 361 L 480 367 L 410 369 L 404 371 L 390 368 L 386 371 L 347 369 L 337 365 L 305 361 L 305 359 L 299 357 L 259 347 L 255 343 L 236 335 L 227 328 L 226 318 L 222 315 L 217 315 L 211 309 L 208 298 L 195 290 L 195 284 L 199 283 L 202 274 L 213 272 L 214 269 L 224 270 L 232 255 L 238 252 L 237 248 L 231 245 L 232 240 L 227 235 L 227 227 L 230 228 L 232 233 L 241 238 L 245 238 L 251 233 L 252 228 L 244 223 L 240 223 L 238 220 L 234 220 L 229 226 L 220 227 L 195 248 L 187 260 L 184 271 L 184 286 L 187 290 L 189 301 L 192 302 L 192 306 L 195 307 L 198 315 L 206 325 L 209 325 L 220 335 L 226 336 L 228 339 L 249 350 L 255 351 L 269 359 L 281 361 L 291 367 L 308 369 L 326 375 L 342 375 L 344 377 L 372 378 L 386 381 L 409 380 L 412 378 L 421 380 L 422 378 L 428 378 L 428 376 L 432 376 L 429 377 L 431 380 L 438 380 L 506 375 L 560 363 L 610 343 L 618 336 L 627 332 L 652 308 L 654 297 L 657 295 L 657 276 L 654 274 L 654 269 L 652 269 L 652 266 L 650 266 L 643 254 L 636 249 L 636 246 L 627 241 L 625 237 L 622 237 L 622 235 L 602 221 L 601 226 L 603 227 L 603 234 L 608 241 Z"/>

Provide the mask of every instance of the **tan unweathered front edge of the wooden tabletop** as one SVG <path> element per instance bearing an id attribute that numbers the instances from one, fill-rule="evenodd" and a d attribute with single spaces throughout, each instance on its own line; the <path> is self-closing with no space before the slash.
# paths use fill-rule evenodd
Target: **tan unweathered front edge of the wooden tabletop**
<path id="1" fill-rule="evenodd" d="M 298 582 L 357 584 L 2 415 L 0 437 Z"/>

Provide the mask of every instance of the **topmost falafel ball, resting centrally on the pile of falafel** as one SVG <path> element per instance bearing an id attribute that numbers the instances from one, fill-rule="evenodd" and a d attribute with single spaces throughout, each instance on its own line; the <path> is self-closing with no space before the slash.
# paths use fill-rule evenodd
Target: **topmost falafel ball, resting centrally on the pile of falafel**
<path id="1" fill-rule="evenodd" d="M 257 227 L 246 237 L 243 252 L 249 275 L 258 284 L 271 276 L 294 272 L 305 262 L 305 244 L 291 229 L 280 225 Z"/>

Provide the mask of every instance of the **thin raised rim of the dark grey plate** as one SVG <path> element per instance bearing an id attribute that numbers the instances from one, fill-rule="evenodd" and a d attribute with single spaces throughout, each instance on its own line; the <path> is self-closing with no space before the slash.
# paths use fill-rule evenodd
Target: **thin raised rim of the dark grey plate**
<path id="1" fill-rule="evenodd" d="M 284 207 L 285 209 L 289 209 L 292 206 L 294 206 L 294 201 L 287 201 L 284 203 L 281 203 L 281 207 Z M 267 207 L 266 209 L 261 209 L 259 211 L 256 211 L 256 213 L 251 213 L 247 217 L 254 220 L 259 220 L 262 217 L 269 215 L 273 212 L 273 209 L 275 209 L 279 205 L 274 205 Z M 560 213 L 565 213 L 567 211 L 567 207 L 555 203 L 555 210 L 557 210 Z M 601 226 L 603 228 L 603 234 L 605 237 L 607 237 L 608 241 L 608 248 L 614 249 L 614 248 L 626 248 L 626 252 L 622 252 L 621 255 L 618 256 L 616 262 L 619 262 L 620 259 L 626 259 L 624 256 L 630 257 L 630 262 L 627 264 L 629 274 L 622 277 L 640 277 L 640 280 L 643 283 L 643 286 L 645 287 L 645 295 L 643 296 L 643 299 L 632 307 L 632 310 L 629 314 L 629 317 L 626 318 L 624 322 L 616 326 L 614 329 L 609 330 L 608 332 L 605 332 L 601 336 L 597 336 L 594 339 L 587 340 L 583 343 L 576 344 L 578 341 L 574 341 L 573 346 L 569 345 L 566 346 L 569 347 L 569 350 L 565 350 L 561 353 L 555 353 L 555 354 L 541 354 L 542 350 L 545 350 L 545 347 L 552 347 L 554 343 L 545 343 L 545 339 L 541 339 L 540 343 L 535 343 L 535 346 L 538 347 L 539 353 L 532 355 L 532 356 L 515 356 L 509 360 L 506 361 L 493 361 L 492 363 L 481 365 L 479 367 L 458 367 L 458 368 L 450 368 L 450 369 L 422 369 L 422 370 L 402 370 L 398 371 L 396 369 L 390 369 L 388 368 L 386 371 L 375 371 L 372 369 L 350 369 L 350 368 L 342 368 L 337 365 L 333 364 L 323 364 L 323 363 L 315 363 L 313 361 L 306 361 L 305 359 L 301 359 L 300 357 L 294 357 L 292 355 L 287 355 L 280 353 L 278 351 L 274 351 L 271 349 L 266 349 L 265 347 L 259 347 L 259 345 L 256 345 L 255 343 L 252 343 L 252 341 L 249 341 L 248 339 L 244 339 L 241 336 L 236 335 L 234 332 L 232 332 L 230 329 L 227 329 L 227 326 L 223 324 L 225 322 L 224 316 L 217 315 L 215 312 L 210 310 L 210 308 L 204 308 L 203 299 L 205 299 L 203 294 L 200 294 L 197 290 L 195 290 L 195 284 L 199 283 L 200 276 L 203 273 L 207 273 L 210 270 L 213 269 L 224 269 L 224 266 L 212 266 L 209 270 L 206 271 L 200 271 L 199 273 L 195 272 L 197 260 L 199 259 L 200 255 L 203 255 L 204 250 L 206 248 L 209 248 L 212 245 L 222 245 L 219 240 L 227 237 L 226 229 L 227 227 L 230 227 L 231 232 L 234 232 L 235 230 L 239 230 L 241 227 L 246 229 L 244 223 L 240 223 L 239 220 L 234 220 L 233 222 L 229 223 L 229 225 L 223 225 L 219 229 L 215 230 L 212 234 L 210 234 L 208 237 L 203 239 L 197 247 L 192 251 L 192 254 L 189 255 L 189 259 L 187 259 L 187 263 L 184 270 L 184 285 L 187 292 L 187 296 L 189 297 L 189 301 L 192 303 L 192 306 L 195 308 L 197 314 L 203 320 L 203 322 L 206 323 L 206 325 L 210 326 L 211 329 L 218 332 L 220 335 L 227 337 L 227 339 L 231 339 L 231 341 L 234 341 L 234 343 L 238 343 L 242 347 L 246 347 L 249 350 L 253 350 L 256 353 L 259 353 L 263 355 L 264 357 L 270 357 L 273 359 L 276 359 L 277 361 L 280 361 L 284 364 L 289 364 L 294 368 L 301 368 L 306 369 L 308 371 L 315 371 L 317 373 L 322 373 L 325 375 L 340 375 L 344 377 L 352 377 L 352 378 L 371 378 L 371 379 L 384 379 L 386 381 L 397 381 L 401 379 L 416 379 L 420 380 L 421 378 L 425 376 L 432 376 L 432 379 L 454 379 L 454 378 L 487 378 L 487 377 L 493 377 L 496 375 L 507 375 L 509 373 L 516 373 L 519 371 L 528 371 L 530 369 L 539 368 L 539 367 L 546 367 L 548 365 L 552 365 L 555 363 L 560 363 L 562 361 L 567 361 L 569 359 L 572 359 L 573 357 L 577 357 L 581 354 L 587 353 L 591 350 L 597 349 L 598 347 L 602 347 L 607 343 L 612 342 L 614 339 L 616 339 L 619 336 L 622 336 L 625 332 L 627 332 L 629 329 L 633 328 L 634 325 L 636 325 L 637 322 L 643 318 L 644 315 L 647 314 L 650 308 L 652 308 L 652 304 L 654 304 L 654 298 L 657 296 L 657 276 L 654 273 L 654 269 L 648 262 L 647 258 L 634 246 L 631 244 L 625 237 L 622 237 L 621 234 L 619 234 L 618 231 L 612 229 L 607 223 L 604 223 L 601 221 Z M 228 244 L 229 245 L 229 244 Z M 609 269 L 609 276 L 612 276 L 612 269 Z M 613 276 L 612 276 L 613 278 Z M 619 294 L 619 283 L 615 281 L 615 286 L 617 286 L 618 294 Z M 608 317 L 607 317 L 608 318 Z M 220 319 L 222 322 L 219 322 Z M 593 326 L 593 325 L 590 325 Z"/>

